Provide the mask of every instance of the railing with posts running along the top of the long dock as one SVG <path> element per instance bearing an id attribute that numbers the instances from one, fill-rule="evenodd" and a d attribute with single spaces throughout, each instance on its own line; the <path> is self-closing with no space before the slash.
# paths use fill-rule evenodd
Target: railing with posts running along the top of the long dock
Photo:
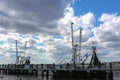
<path id="1" fill-rule="evenodd" d="M 88 68 L 89 64 L 30 64 L 29 69 L 38 69 L 38 70 L 86 70 L 86 69 L 119 69 L 120 64 L 115 66 L 113 63 L 102 63 L 100 67 L 91 67 Z M 24 69 L 25 65 L 20 64 L 1 64 L 0 69 Z"/>

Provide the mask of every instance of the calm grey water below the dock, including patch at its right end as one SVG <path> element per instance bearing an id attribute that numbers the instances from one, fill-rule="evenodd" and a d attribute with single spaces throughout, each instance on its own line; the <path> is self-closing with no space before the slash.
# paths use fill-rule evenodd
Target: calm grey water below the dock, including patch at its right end
<path id="1" fill-rule="evenodd" d="M 113 80 L 120 80 L 120 71 L 113 72 Z M 80 78 L 55 78 L 41 77 L 41 76 L 15 76 L 15 75 L 2 75 L 0 74 L 0 80 L 109 80 L 109 79 L 80 79 Z"/>

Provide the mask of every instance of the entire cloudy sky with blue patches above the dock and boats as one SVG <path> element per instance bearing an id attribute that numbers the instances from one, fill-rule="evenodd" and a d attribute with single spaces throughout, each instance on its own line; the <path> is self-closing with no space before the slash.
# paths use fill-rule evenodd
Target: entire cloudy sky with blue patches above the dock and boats
<path id="1" fill-rule="evenodd" d="M 31 63 L 67 63 L 82 29 L 82 55 L 92 45 L 101 62 L 120 61 L 119 0 L 0 0 L 0 64 L 18 54 Z M 82 56 L 81 55 L 81 56 Z"/>

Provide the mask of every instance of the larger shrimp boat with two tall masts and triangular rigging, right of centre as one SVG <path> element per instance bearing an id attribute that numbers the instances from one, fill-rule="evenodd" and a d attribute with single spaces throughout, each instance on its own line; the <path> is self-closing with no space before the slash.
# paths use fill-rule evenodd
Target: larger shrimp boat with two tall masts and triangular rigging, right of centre
<path id="1" fill-rule="evenodd" d="M 73 38 L 73 23 L 71 23 L 72 60 L 70 61 L 71 63 L 61 64 L 57 67 L 53 77 L 100 78 L 105 80 L 107 78 L 107 80 L 112 80 L 112 71 L 104 68 L 104 64 L 101 63 L 97 56 L 96 46 L 91 46 L 90 53 L 87 52 L 81 58 L 81 35 L 82 29 L 80 29 L 79 43 L 75 44 Z M 89 63 L 85 63 L 90 56 L 91 59 L 89 59 Z"/>

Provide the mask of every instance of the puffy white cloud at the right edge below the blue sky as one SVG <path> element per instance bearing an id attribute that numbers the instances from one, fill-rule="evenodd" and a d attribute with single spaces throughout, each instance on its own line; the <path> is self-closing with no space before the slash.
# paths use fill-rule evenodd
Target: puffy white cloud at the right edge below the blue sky
<path id="1" fill-rule="evenodd" d="M 103 23 L 93 29 L 96 41 L 103 43 L 104 47 L 118 47 L 120 40 L 120 16 L 116 14 L 103 14 L 100 17 L 100 21 Z"/>

